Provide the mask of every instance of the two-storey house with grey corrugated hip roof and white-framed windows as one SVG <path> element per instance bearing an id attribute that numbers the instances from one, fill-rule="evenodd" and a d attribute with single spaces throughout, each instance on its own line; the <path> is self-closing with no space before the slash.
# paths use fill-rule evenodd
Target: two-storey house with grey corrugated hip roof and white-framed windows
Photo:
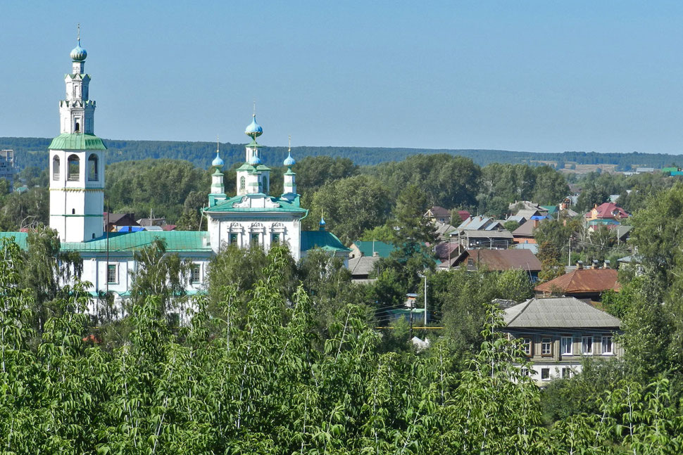
<path id="1" fill-rule="evenodd" d="M 621 321 L 575 297 L 535 297 L 505 310 L 503 331 L 522 340 L 537 384 L 569 378 L 582 370 L 582 359 L 615 359 Z"/>

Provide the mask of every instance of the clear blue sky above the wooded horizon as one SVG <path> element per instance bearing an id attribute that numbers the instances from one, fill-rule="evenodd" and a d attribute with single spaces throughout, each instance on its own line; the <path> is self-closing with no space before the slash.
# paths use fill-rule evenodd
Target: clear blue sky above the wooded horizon
<path id="1" fill-rule="evenodd" d="M 0 0 L 0 136 L 683 153 L 682 1 Z"/>

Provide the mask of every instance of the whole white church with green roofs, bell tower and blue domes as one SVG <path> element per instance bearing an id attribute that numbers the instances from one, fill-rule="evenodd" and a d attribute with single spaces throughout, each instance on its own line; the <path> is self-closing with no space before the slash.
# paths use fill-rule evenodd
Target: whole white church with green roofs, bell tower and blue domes
<path id="1" fill-rule="evenodd" d="M 83 281 L 92 283 L 91 293 L 112 293 L 115 300 L 130 295 L 137 270 L 134 252 L 161 238 L 168 252 L 192 262 L 187 282 L 189 295 L 205 288 L 208 264 L 228 245 L 264 248 L 287 244 L 295 260 L 313 248 L 343 257 L 349 249 L 333 233 L 302 231 L 308 210 L 300 207 L 296 193 L 295 162 L 291 150 L 284 166 L 284 193 L 270 195 L 270 168 L 263 165 L 262 146 L 256 138 L 263 128 L 253 115 L 246 134 L 244 164 L 237 169 L 237 194 L 228 196 L 223 185 L 223 160 L 216 150 L 211 193 L 203 215 L 208 231 L 104 231 L 104 167 L 106 146 L 94 134 L 95 101 L 90 99 L 90 75 L 85 72 L 87 52 L 78 44 L 71 51 L 71 74 L 65 75 L 66 98 L 59 102 L 60 134 L 50 143 L 50 227 L 58 232 L 62 250 L 77 251 L 83 259 Z M 26 248 L 27 233 L 5 232 Z"/>

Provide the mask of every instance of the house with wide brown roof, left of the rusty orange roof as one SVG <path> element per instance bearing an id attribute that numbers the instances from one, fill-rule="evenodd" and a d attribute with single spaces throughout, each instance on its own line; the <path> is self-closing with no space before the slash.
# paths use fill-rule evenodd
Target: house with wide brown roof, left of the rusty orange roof
<path id="1" fill-rule="evenodd" d="M 460 266 L 471 271 L 524 270 L 532 281 L 537 281 L 541 271 L 541 261 L 530 250 L 464 250 L 450 264 L 450 267 Z M 444 264 L 440 267 L 443 269 Z"/>

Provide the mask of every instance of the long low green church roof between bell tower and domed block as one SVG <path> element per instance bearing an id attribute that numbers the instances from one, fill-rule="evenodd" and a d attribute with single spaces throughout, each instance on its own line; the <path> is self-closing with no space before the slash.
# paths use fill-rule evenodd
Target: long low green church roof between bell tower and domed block
<path id="1" fill-rule="evenodd" d="M 26 232 L 0 232 L 0 238 L 14 237 L 20 248 L 27 248 Z M 168 252 L 211 252 L 208 244 L 208 232 L 204 231 L 136 231 L 109 233 L 109 252 L 132 252 L 150 245 L 156 238 L 166 241 Z M 77 252 L 106 252 L 106 236 L 87 242 L 62 242 L 61 249 Z"/>

